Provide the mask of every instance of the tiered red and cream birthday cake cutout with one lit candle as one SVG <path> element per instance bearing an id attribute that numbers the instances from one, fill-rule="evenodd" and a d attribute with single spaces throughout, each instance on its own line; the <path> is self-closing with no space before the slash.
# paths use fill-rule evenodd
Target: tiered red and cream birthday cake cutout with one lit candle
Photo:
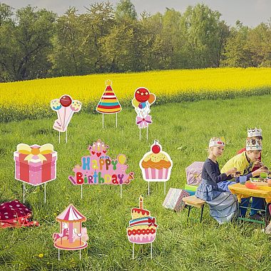
<path id="1" fill-rule="evenodd" d="M 139 198 L 139 208 L 132 209 L 132 220 L 127 227 L 127 236 L 130 242 L 145 244 L 155 240 L 155 218 L 150 216 L 148 210 L 143 209 L 143 197 Z"/>

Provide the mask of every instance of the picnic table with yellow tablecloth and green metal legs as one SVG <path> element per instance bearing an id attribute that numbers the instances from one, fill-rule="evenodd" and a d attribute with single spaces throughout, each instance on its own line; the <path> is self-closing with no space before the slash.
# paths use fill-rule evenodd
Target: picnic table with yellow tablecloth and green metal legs
<path id="1" fill-rule="evenodd" d="M 240 183 L 235 183 L 233 185 L 229 185 L 229 189 L 232 194 L 237 195 L 237 199 L 239 203 L 241 203 L 242 198 L 250 198 L 250 197 L 264 198 L 266 202 L 265 209 L 263 209 L 263 211 L 265 211 L 265 222 L 251 220 L 248 218 L 238 218 L 238 219 L 267 225 L 267 212 L 268 212 L 267 203 L 271 203 L 271 187 L 258 185 L 257 189 L 250 189 L 250 188 L 247 188 L 245 185 L 241 185 Z"/>

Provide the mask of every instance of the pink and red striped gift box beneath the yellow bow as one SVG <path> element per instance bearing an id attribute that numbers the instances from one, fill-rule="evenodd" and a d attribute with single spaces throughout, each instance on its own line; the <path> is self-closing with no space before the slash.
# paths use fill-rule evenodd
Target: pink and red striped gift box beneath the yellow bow
<path id="1" fill-rule="evenodd" d="M 31 145 L 31 148 L 40 148 L 40 145 Z M 30 185 L 41 185 L 50 180 L 56 179 L 57 152 L 44 154 L 46 158 L 42 162 L 38 155 L 34 155 L 31 160 L 24 160 L 27 154 L 14 152 L 15 179 L 21 180 Z"/>

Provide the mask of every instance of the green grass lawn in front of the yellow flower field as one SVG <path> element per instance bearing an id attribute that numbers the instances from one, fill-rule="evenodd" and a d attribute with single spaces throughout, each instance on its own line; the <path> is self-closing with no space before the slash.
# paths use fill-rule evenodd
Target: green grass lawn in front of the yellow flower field
<path id="1" fill-rule="evenodd" d="M 210 218 L 208 208 L 202 224 L 188 222 L 187 210 L 174 213 L 162 207 L 162 183 L 151 183 L 151 194 L 147 195 L 148 184 L 138 166 L 153 140 L 158 139 L 173 160 L 167 190 L 183 188 L 185 168 L 195 160 L 205 160 L 210 137 L 225 137 L 225 153 L 219 160 L 223 165 L 245 145 L 247 127 L 255 126 L 262 128 L 262 160 L 270 166 L 270 101 L 271 96 L 257 96 L 153 106 L 148 142 L 145 131 L 143 140 L 139 140 L 133 108 L 118 114 L 117 129 L 115 116 L 105 116 L 102 129 L 101 115 L 76 114 L 68 127 L 68 144 L 61 135 L 60 145 L 58 133 L 52 129 L 56 118 L 0 124 L 1 202 L 23 198 L 23 185 L 14 180 L 13 152 L 18 143 L 52 143 L 58 152 L 57 179 L 46 185 L 47 203 L 43 186 L 26 185 L 26 205 L 41 226 L 0 230 L 0 270 L 270 270 L 270 236 L 260 232 L 258 225 L 218 225 Z M 73 166 L 88 153 L 88 144 L 98 138 L 110 146 L 111 158 L 125 153 L 128 169 L 135 172 L 136 180 L 123 187 L 122 199 L 118 186 L 85 185 L 81 200 L 80 187 L 68 180 Z M 139 195 L 144 196 L 144 208 L 150 210 L 159 226 L 153 260 L 150 245 L 136 245 L 136 259 L 132 260 L 132 244 L 126 236 L 131 208 L 138 206 Z M 88 219 L 83 223 L 88 228 L 88 248 L 82 250 L 81 260 L 78 251 L 62 250 L 58 262 L 52 234 L 59 230 L 56 215 L 69 203 Z M 40 253 L 44 257 L 39 258 Z"/>

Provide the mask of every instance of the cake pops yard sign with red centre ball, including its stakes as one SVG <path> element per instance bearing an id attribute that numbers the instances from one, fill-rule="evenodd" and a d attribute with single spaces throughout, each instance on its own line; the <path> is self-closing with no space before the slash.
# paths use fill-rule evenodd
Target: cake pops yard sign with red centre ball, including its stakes
<path id="1" fill-rule="evenodd" d="M 81 110 L 81 101 L 73 100 L 71 96 L 63 95 L 59 99 L 51 101 L 51 108 L 56 111 L 58 119 L 53 123 L 53 129 L 58 131 L 58 140 L 60 143 L 60 133 L 66 132 L 67 143 L 67 128 L 70 123 L 73 113 Z"/>

